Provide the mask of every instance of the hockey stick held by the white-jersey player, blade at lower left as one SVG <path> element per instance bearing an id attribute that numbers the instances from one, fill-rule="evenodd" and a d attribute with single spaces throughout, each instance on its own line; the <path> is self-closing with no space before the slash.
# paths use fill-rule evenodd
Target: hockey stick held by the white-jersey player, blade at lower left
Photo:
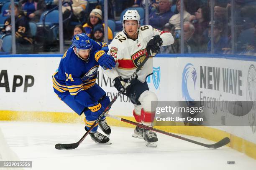
<path id="1" fill-rule="evenodd" d="M 129 82 L 131 82 L 131 80 L 133 80 L 133 78 L 136 77 L 137 73 L 139 70 L 141 70 L 141 68 L 143 67 L 143 65 L 146 63 L 146 61 L 148 60 L 148 58 L 151 57 L 151 54 L 148 53 L 148 56 L 143 60 L 143 62 L 141 62 L 141 64 L 138 66 L 138 68 L 135 70 L 135 72 L 133 73 L 133 75 L 129 78 L 129 80 L 125 83 L 124 87 L 126 88 L 129 84 Z M 67 144 L 62 144 L 62 143 L 58 143 L 55 145 L 56 149 L 75 149 L 77 148 L 80 143 L 82 143 L 82 141 L 85 139 L 85 137 L 90 133 L 90 131 L 92 131 L 92 129 L 94 128 L 94 126 L 100 121 L 100 119 L 106 114 L 106 112 L 109 110 L 109 108 L 113 105 L 113 103 L 115 102 L 115 100 L 117 100 L 117 98 L 120 96 L 121 92 L 118 92 L 118 94 L 113 98 L 113 100 L 110 102 L 110 104 L 105 108 L 104 112 L 102 112 L 100 114 L 100 116 L 97 118 L 97 120 L 95 120 L 95 122 L 92 124 L 91 128 L 89 130 L 87 130 L 87 132 L 82 136 L 82 138 L 77 142 L 77 143 L 67 143 Z"/>

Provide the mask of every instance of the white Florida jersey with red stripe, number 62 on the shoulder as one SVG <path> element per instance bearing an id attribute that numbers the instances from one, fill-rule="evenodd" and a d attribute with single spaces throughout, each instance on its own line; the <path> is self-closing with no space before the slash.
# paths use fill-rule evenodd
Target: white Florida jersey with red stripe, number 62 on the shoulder
<path id="1" fill-rule="evenodd" d="M 116 66 L 112 70 L 103 70 L 112 80 L 122 76 L 124 79 L 131 77 L 136 68 L 146 57 L 146 45 L 154 35 L 160 35 L 163 45 L 171 45 L 174 38 L 170 32 L 164 32 L 152 28 L 150 25 L 141 26 L 138 29 L 138 38 L 128 38 L 124 31 L 120 32 L 108 45 L 108 54 L 114 57 Z M 153 72 L 153 58 L 149 58 L 137 73 L 138 80 L 144 82 L 146 77 Z"/>

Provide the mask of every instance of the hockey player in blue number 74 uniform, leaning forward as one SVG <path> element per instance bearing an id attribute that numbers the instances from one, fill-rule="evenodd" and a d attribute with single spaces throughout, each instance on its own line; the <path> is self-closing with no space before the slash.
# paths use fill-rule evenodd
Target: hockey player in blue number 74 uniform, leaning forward
<path id="1" fill-rule="evenodd" d="M 54 92 L 78 115 L 85 115 L 85 130 L 88 130 L 110 103 L 106 92 L 96 84 L 99 65 L 105 69 L 115 67 L 115 60 L 107 54 L 108 45 L 95 42 L 86 34 L 73 37 L 72 46 L 61 58 L 59 69 L 52 76 Z M 105 117 L 99 127 L 106 135 L 111 129 Z M 98 126 L 98 125 L 97 125 Z M 110 139 L 92 129 L 90 136 L 96 143 L 111 144 Z"/>

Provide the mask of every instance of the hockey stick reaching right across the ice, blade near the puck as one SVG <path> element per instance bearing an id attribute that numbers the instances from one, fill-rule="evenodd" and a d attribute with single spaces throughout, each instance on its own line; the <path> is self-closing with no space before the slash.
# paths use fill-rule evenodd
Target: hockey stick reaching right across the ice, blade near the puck
<path id="1" fill-rule="evenodd" d="M 179 136 L 179 135 L 175 135 L 173 133 L 168 133 L 168 132 L 165 132 L 163 130 L 159 130 L 159 129 L 155 129 L 153 127 L 149 127 L 149 126 L 146 126 L 146 125 L 142 125 L 142 124 L 139 124 L 137 122 L 133 122 L 131 120 L 127 120 L 127 119 L 123 119 L 123 118 L 120 118 L 120 117 L 115 117 L 113 115 L 106 115 L 108 117 L 111 117 L 113 119 L 116 119 L 116 120 L 120 120 L 122 122 L 126 122 L 126 123 L 130 123 L 132 125 L 137 125 L 141 128 L 145 128 L 145 129 L 148 129 L 148 130 L 152 130 L 152 131 L 155 131 L 155 132 L 159 132 L 159 133 L 162 133 L 164 135 L 168 135 L 168 136 L 172 136 L 174 138 L 178 138 L 178 139 L 181 139 L 181 140 L 185 140 L 187 142 L 191 142 L 191 143 L 195 143 L 197 145 L 201 145 L 201 146 L 204 146 L 206 148 L 213 148 L 213 149 L 217 149 L 217 148 L 220 148 L 224 145 L 227 145 L 229 142 L 230 142 L 230 139 L 228 137 L 226 138 L 223 138 L 222 140 L 218 141 L 217 143 L 214 143 L 214 144 L 205 144 L 205 143 L 200 143 L 200 142 L 197 142 L 195 140 L 191 140 L 191 139 L 188 139 L 188 138 L 184 138 L 182 136 Z"/>

